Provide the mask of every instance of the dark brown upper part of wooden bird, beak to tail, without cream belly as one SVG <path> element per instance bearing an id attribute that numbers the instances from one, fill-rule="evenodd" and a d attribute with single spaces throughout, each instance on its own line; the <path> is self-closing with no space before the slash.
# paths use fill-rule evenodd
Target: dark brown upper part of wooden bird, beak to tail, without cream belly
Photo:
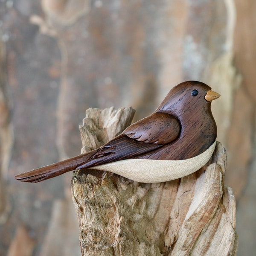
<path id="1" fill-rule="evenodd" d="M 129 126 L 98 150 L 17 175 L 15 179 L 38 182 L 74 169 L 128 158 L 183 160 L 198 156 L 216 140 L 217 127 L 209 100 L 218 97 L 207 84 L 198 81 L 178 84 L 153 114 Z"/>

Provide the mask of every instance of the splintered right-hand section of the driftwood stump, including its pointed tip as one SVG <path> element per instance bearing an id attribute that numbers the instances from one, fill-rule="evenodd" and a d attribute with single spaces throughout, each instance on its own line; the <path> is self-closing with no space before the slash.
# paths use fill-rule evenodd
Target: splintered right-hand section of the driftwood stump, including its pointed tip
<path id="1" fill-rule="evenodd" d="M 223 182 L 226 161 L 226 151 L 218 142 L 212 163 L 196 180 L 171 255 L 236 255 L 236 201 L 232 189 Z"/>

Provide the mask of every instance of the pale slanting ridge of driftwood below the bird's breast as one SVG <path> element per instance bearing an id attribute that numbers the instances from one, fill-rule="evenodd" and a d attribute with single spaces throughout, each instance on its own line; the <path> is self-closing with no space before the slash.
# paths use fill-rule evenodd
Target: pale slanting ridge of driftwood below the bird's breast
<path id="1" fill-rule="evenodd" d="M 211 164 L 196 180 L 194 196 L 179 230 L 173 255 L 180 249 L 189 253 L 202 230 L 215 215 L 222 196 L 221 178 L 218 165 Z"/>

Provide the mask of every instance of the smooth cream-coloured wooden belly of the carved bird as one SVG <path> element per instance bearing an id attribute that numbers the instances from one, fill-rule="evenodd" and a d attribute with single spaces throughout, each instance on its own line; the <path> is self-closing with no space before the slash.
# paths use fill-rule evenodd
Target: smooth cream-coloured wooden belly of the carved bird
<path id="1" fill-rule="evenodd" d="M 216 141 L 202 154 L 186 160 L 126 159 L 90 167 L 113 172 L 143 183 L 164 182 L 189 175 L 204 166 L 212 156 Z"/>

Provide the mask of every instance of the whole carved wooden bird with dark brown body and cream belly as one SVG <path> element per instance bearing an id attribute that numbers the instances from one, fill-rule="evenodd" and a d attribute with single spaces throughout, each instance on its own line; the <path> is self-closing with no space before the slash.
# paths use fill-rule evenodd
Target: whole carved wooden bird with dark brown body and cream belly
<path id="1" fill-rule="evenodd" d="M 174 180 L 204 166 L 215 148 L 211 101 L 220 97 L 202 82 L 173 87 L 154 113 L 102 147 L 15 176 L 39 182 L 75 169 L 98 169 L 144 183 Z"/>

